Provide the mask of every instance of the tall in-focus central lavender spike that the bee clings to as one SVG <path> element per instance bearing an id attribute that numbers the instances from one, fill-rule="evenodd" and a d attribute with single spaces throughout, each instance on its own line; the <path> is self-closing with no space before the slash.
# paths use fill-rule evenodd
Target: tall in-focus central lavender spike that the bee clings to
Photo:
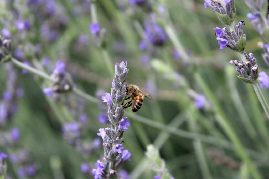
<path id="1" fill-rule="evenodd" d="M 121 166 L 125 160 L 130 160 L 130 152 L 124 150 L 123 132 L 128 129 L 130 123 L 127 118 L 123 118 L 123 103 L 126 98 L 126 76 L 128 74 L 127 61 L 115 65 L 115 76 L 112 82 L 111 94 L 105 93 L 102 97 L 104 103 L 108 106 L 108 118 L 110 125 L 105 129 L 99 129 L 98 136 L 103 139 L 105 158 L 102 162 L 99 160 L 95 164 L 96 169 L 92 170 L 94 178 L 113 178 L 117 177 L 116 169 Z M 108 165 L 108 163 L 110 163 Z"/>

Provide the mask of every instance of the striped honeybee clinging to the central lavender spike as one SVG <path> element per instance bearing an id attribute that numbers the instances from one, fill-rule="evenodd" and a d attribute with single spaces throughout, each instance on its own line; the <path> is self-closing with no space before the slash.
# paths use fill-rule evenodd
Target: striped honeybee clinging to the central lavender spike
<path id="1" fill-rule="evenodd" d="M 128 100 L 129 98 L 131 98 L 131 100 L 124 105 L 124 108 L 132 106 L 133 112 L 136 112 L 141 108 L 144 96 L 150 100 L 153 100 L 150 94 L 140 90 L 139 87 L 136 85 L 127 85 L 126 90 L 127 90 L 126 94 L 129 97 L 126 98 L 125 100 Z"/>

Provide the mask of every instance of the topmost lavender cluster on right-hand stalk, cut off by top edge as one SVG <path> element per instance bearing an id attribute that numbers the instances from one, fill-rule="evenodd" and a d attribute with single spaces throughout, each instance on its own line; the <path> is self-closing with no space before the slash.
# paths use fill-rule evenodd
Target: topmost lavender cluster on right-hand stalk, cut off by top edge
<path id="1" fill-rule="evenodd" d="M 222 23 L 232 25 L 236 15 L 235 2 L 224 0 L 224 3 L 225 7 L 222 6 L 220 0 L 214 0 L 214 3 L 211 0 L 205 0 L 204 8 L 210 6 Z"/>

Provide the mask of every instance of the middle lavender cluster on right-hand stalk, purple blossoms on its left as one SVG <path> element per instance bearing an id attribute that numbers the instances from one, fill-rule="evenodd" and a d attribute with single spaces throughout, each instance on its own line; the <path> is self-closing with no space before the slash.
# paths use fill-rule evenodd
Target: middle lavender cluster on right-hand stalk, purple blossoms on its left
<path id="1" fill-rule="evenodd" d="M 242 25 L 244 25 L 244 21 L 240 21 L 236 25 L 235 32 L 230 31 L 227 28 L 219 28 L 215 27 L 215 35 L 217 36 L 218 44 L 220 45 L 220 49 L 224 49 L 228 47 L 229 49 L 235 50 L 237 52 L 243 52 L 246 46 L 246 34 L 243 34 Z"/>

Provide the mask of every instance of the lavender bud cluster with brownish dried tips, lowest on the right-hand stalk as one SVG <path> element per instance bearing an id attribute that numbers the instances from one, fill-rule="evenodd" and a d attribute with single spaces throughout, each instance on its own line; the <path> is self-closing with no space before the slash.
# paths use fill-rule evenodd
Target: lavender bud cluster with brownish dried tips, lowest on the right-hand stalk
<path id="1" fill-rule="evenodd" d="M 239 73 L 238 78 L 246 83 L 254 83 L 259 76 L 259 67 L 256 63 L 256 59 L 253 57 L 252 53 L 246 54 L 246 62 L 238 60 L 231 60 L 230 64 L 235 64 L 236 71 Z"/>

